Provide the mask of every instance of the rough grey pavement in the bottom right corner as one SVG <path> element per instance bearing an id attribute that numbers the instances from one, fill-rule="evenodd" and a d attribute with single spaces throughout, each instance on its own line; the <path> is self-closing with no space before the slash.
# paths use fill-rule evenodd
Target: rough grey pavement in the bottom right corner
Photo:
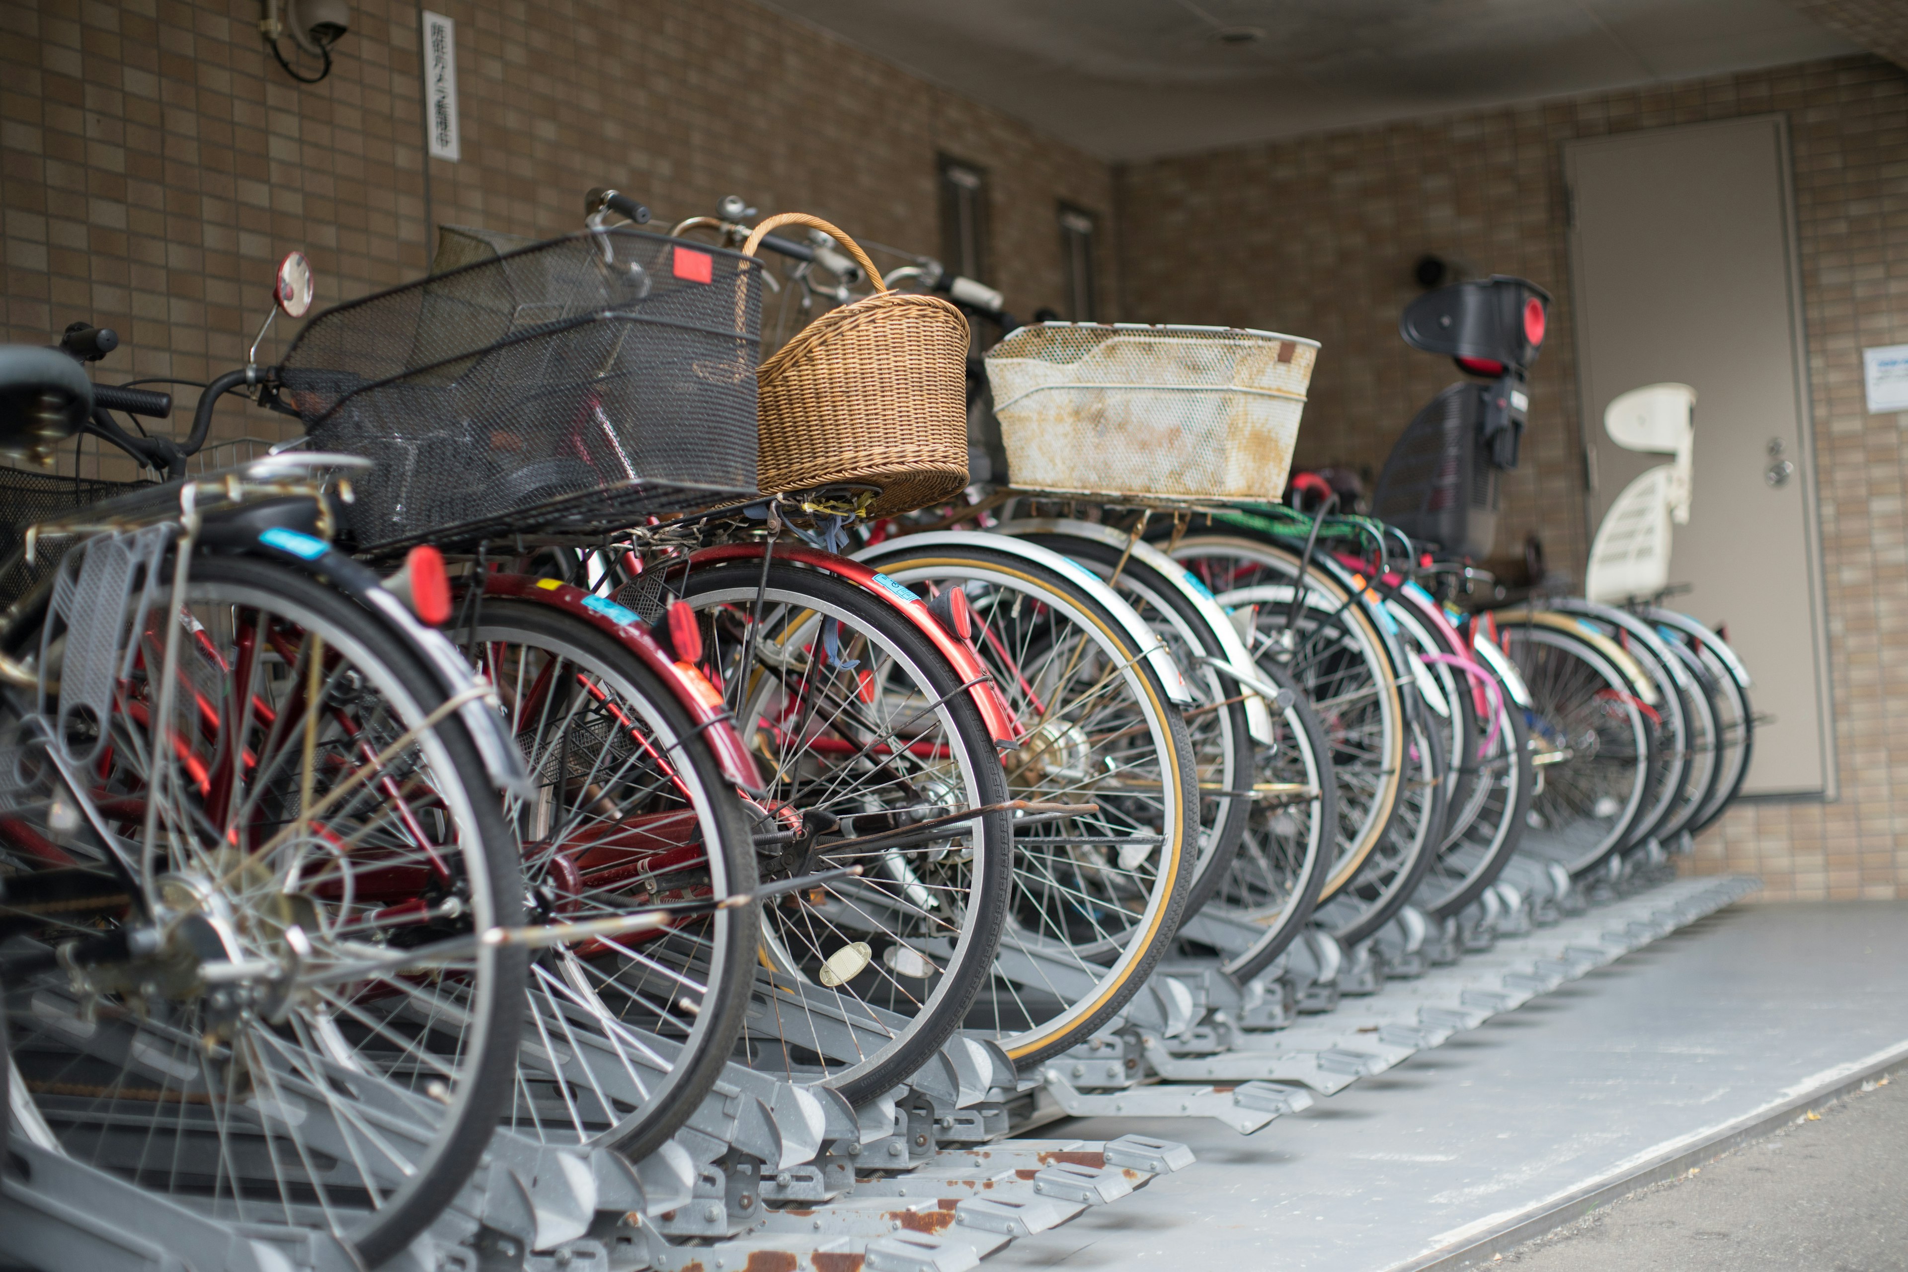
<path id="1" fill-rule="evenodd" d="M 1908 1079 L 1883 1079 L 1504 1257 L 1523 1272 L 1908 1268 Z"/>

